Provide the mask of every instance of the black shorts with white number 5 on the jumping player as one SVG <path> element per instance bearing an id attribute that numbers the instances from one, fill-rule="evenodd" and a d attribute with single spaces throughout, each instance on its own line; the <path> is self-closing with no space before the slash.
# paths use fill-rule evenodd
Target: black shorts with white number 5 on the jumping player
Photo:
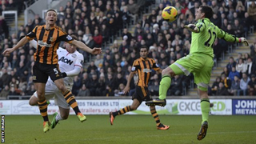
<path id="1" fill-rule="evenodd" d="M 46 83 L 50 79 L 55 81 L 59 78 L 62 78 L 62 74 L 56 65 L 48 65 L 40 62 L 34 62 L 33 66 L 33 82 Z"/>

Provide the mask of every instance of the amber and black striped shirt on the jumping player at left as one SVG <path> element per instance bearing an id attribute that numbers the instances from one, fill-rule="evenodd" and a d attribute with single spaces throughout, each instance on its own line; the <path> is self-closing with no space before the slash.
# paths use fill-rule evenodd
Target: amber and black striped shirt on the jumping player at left
<path id="1" fill-rule="evenodd" d="M 32 40 L 34 38 L 38 41 L 37 51 L 34 53 L 34 61 L 45 64 L 58 64 L 57 49 L 61 41 L 71 43 L 74 39 L 66 34 L 58 26 L 46 30 L 46 25 L 35 26 L 26 38 Z"/>

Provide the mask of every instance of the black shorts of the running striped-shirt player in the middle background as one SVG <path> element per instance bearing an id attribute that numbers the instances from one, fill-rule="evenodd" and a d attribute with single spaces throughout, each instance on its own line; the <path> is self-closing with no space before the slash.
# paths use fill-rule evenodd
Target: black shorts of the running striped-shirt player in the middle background
<path id="1" fill-rule="evenodd" d="M 148 90 L 147 87 L 143 87 L 143 86 L 136 86 L 135 88 L 135 93 L 132 97 L 132 99 L 134 100 L 134 98 L 138 99 L 138 101 L 140 103 L 142 103 L 142 101 L 151 101 L 153 100 L 151 97 L 150 97 L 150 92 Z"/>

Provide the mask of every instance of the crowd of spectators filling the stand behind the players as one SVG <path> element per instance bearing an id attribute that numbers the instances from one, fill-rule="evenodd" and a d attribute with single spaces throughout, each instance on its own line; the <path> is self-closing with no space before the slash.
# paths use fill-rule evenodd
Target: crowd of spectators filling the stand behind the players
<path id="1" fill-rule="evenodd" d="M 247 7 L 246 1 L 167 1 L 163 0 L 153 10 L 147 9 L 152 1 L 142 0 L 74 0 L 60 6 L 57 25 L 68 34 L 77 34 L 78 40 L 87 46 L 102 47 L 104 54 L 94 56 L 80 51 L 85 62 L 90 63 L 74 78 L 73 94 L 78 96 L 120 96 L 126 86 L 131 66 L 139 58 L 139 47 L 148 46 L 149 57 L 154 58 L 162 69 L 190 52 L 191 33 L 184 26 L 194 23 L 194 13 L 198 6 L 211 6 L 214 17 L 211 22 L 222 30 L 242 37 L 256 24 L 254 2 Z M 178 18 L 166 22 L 161 13 L 164 7 L 175 6 Z M 146 14 L 150 13 L 150 14 Z M 26 26 L 20 26 L 18 34 L 6 37 L 1 43 L 1 51 L 17 44 L 20 36 L 28 34 L 34 26 L 44 20 L 35 15 Z M 1 18 L 0 18 L 1 24 Z M 134 25 L 130 33 L 129 27 Z M 0 29 L 1 30 L 1 29 Z M 122 42 L 110 38 L 120 36 Z M 104 45 L 103 45 L 104 44 Z M 107 45 L 106 45 L 107 44 Z M 214 54 L 220 60 L 228 51 L 230 43 L 222 39 L 214 42 Z M 255 95 L 256 41 L 250 46 L 250 54 L 238 54 L 231 58 L 222 75 L 210 86 L 211 95 Z M 0 97 L 6 95 L 31 95 L 34 93 L 31 66 L 34 64 L 34 48 L 27 44 L 10 55 L 0 56 Z M 190 86 L 193 76 L 175 76 L 167 95 L 182 95 Z M 153 73 L 149 90 L 158 95 L 161 75 Z M 130 93 L 134 93 L 136 78 L 131 82 Z"/>

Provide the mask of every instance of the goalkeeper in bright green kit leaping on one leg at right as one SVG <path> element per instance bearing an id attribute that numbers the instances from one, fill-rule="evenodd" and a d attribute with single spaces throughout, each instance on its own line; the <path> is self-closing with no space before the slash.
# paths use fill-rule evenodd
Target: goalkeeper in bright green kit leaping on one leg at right
<path id="1" fill-rule="evenodd" d="M 214 66 L 214 41 L 216 38 L 223 38 L 227 42 L 242 42 L 248 46 L 246 38 L 236 38 L 234 35 L 226 33 L 210 22 L 212 15 L 213 10 L 209 6 L 199 7 L 195 14 L 197 22 L 185 26 L 192 32 L 190 54 L 178 59 L 172 65 L 166 67 L 165 70 L 162 70 L 159 98 L 146 102 L 147 106 L 166 106 L 166 92 L 170 87 L 171 78 L 177 74 L 194 74 L 194 82 L 198 85 L 202 110 L 202 126 L 198 133 L 198 140 L 205 138 L 208 128 L 210 101 L 207 88 L 210 82 L 210 73 Z"/>

